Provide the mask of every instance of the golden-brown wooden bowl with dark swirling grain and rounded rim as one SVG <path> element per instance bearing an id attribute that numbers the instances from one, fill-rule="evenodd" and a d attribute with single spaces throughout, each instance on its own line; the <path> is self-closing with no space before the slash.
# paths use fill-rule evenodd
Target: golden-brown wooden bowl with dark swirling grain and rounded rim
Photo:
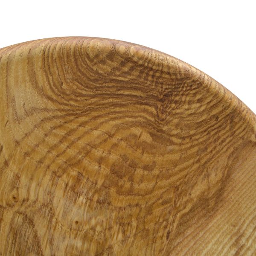
<path id="1" fill-rule="evenodd" d="M 241 84 L 242 86 L 242 84 Z M 164 53 L 0 49 L 0 255 L 256 255 L 256 116 Z"/>

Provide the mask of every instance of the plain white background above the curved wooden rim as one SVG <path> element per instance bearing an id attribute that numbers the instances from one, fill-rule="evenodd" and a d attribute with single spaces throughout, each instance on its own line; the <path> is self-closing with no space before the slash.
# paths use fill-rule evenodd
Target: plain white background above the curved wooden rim
<path id="1" fill-rule="evenodd" d="M 0 48 L 58 36 L 113 38 L 168 53 L 256 113 L 255 0 L 1 1 Z"/>

